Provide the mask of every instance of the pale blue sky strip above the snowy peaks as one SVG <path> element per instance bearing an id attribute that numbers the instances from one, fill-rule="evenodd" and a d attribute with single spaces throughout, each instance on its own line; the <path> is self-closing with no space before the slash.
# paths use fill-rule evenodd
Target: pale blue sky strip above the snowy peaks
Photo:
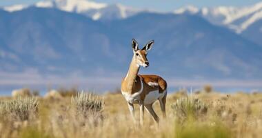
<path id="1" fill-rule="evenodd" d="M 0 6 L 10 6 L 18 3 L 34 3 L 39 0 L 0 0 Z M 77 1 L 77 0 L 76 0 Z M 197 7 L 213 6 L 249 6 L 261 0 L 93 0 L 103 3 L 122 3 L 125 6 L 150 8 L 159 11 L 170 11 L 186 5 Z"/>

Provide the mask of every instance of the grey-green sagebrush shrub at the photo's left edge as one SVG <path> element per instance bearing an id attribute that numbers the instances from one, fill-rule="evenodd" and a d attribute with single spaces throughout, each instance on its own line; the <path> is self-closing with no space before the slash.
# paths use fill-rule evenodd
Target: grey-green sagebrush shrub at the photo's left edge
<path id="1" fill-rule="evenodd" d="M 0 103 L 0 117 L 5 119 L 19 119 L 21 121 L 28 120 L 30 115 L 37 112 L 39 102 L 35 97 L 17 97 L 10 101 L 2 101 Z"/>

